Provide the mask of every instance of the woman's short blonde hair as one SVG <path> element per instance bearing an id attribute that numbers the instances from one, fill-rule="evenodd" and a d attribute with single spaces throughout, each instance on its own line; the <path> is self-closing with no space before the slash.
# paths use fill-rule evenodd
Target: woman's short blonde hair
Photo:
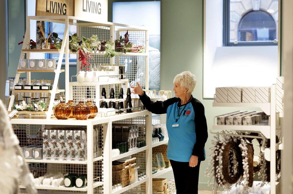
<path id="1" fill-rule="evenodd" d="M 181 88 L 188 89 L 187 94 L 191 95 L 196 85 L 195 75 L 192 74 L 190 71 L 183 71 L 182 73 L 177 74 L 174 77 L 173 83 L 180 83 Z"/>

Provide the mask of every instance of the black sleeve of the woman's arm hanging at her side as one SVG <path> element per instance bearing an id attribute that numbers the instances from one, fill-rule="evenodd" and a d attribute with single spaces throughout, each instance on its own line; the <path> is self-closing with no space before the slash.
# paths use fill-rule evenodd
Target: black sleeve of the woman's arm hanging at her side
<path id="1" fill-rule="evenodd" d="M 195 134 L 196 142 L 194 144 L 192 155 L 198 156 L 199 160 L 204 160 L 204 144 L 207 142 L 207 120 L 204 116 L 204 105 L 200 102 L 193 105 L 195 112 Z"/>

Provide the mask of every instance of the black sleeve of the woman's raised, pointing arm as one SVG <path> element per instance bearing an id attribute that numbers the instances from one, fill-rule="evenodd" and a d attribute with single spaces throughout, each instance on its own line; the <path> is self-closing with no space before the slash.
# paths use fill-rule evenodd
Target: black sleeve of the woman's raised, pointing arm
<path id="1" fill-rule="evenodd" d="M 174 102 L 176 102 L 177 98 L 169 98 L 168 100 L 165 101 L 156 101 L 153 102 L 150 97 L 146 95 L 146 92 L 143 91 L 143 95 L 140 96 L 139 98 L 143 105 L 146 107 L 148 111 L 151 111 L 154 114 L 164 114 L 167 113 L 167 108 Z"/>

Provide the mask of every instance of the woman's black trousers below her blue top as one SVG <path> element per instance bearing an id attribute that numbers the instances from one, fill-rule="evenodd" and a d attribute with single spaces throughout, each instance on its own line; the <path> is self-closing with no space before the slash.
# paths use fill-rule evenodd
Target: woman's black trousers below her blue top
<path id="1" fill-rule="evenodd" d="M 173 168 L 176 194 L 198 194 L 198 176 L 201 161 L 195 167 L 189 167 L 189 162 L 170 160 Z"/>

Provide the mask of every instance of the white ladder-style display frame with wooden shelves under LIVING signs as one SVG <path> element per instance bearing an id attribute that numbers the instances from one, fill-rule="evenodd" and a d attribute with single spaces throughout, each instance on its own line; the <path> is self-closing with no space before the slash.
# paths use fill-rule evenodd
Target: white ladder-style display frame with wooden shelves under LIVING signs
<path id="1" fill-rule="evenodd" d="M 29 40 L 30 40 L 31 20 L 65 24 L 64 36 L 63 36 L 64 38 L 62 41 L 61 49 L 26 49 L 26 42 L 29 42 Z M 21 73 L 26 72 L 27 82 L 30 83 L 32 72 L 34 72 L 34 73 L 54 72 L 55 77 L 54 77 L 52 90 L 50 91 L 51 97 L 50 97 L 50 102 L 49 102 L 49 108 L 48 108 L 48 111 L 46 111 L 47 119 L 51 118 L 55 95 L 56 95 L 56 93 L 59 92 L 57 90 L 57 84 L 58 84 L 59 75 L 61 72 L 65 73 L 65 101 L 67 102 L 69 100 L 69 95 L 70 95 L 70 93 L 69 93 L 69 91 L 70 91 L 69 54 L 73 54 L 69 50 L 69 40 L 68 40 L 69 39 L 68 38 L 69 25 L 77 26 L 77 35 L 79 37 L 92 36 L 93 34 L 95 34 L 95 35 L 98 35 L 98 37 L 100 36 L 101 40 L 102 39 L 103 40 L 109 39 L 110 42 L 115 41 L 115 37 L 116 37 L 116 35 L 119 36 L 119 32 L 129 30 L 132 32 L 136 32 L 137 34 L 140 34 L 139 37 L 136 37 L 136 38 L 138 39 L 139 42 L 143 42 L 144 51 L 142 53 L 121 53 L 121 52 L 119 52 L 118 56 L 116 56 L 116 57 L 104 59 L 103 55 L 105 54 L 105 52 L 97 52 L 97 53 L 93 53 L 93 56 L 101 56 L 102 58 L 95 59 L 90 62 L 92 64 L 93 63 L 103 64 L 103 63 L 105 63 L 105 60 L 107 60 L 107 63 L 113 65 L 113 64 L 115 64 L 115 60 L 116 60 L 117 65 L 123 65 L 123 62 L 119 62 L 120 61 L 119 59 L 121 57 L 122 58 L 123 57 L 124 58 L 125 57 L 132 57 L 132 58 L 136 57 L 135 58 L 136 62 L 141 61 L 141 60 L 138 60 L 138 59 L 140 59 L 139 57 L 143 57 L 144 67 L 141 69 L 134 68 L 133 70 L 129 71 L 127 74 L 131 78 L 130 81 L 132 81 L 131 82 L 132 84 L 135 84 L 137 80 L 142 80 L 143 81 L 143 88 L 148 90 L 148 83 L 149 83 L 149 78 L 148 78 L 149 48 L 148 48 L 148 45 L 149 45 L 149 40 L 148 40 L 147 29 L 142 28 L 142 27 L 131 26 L 131 25 L 124 25 L 124 24 L 117 24 L 117 23 L 112 23 L 112 22 L 99 21 L 98 19 L 95 19 L 95 18 L 81 18 L 81 17 L 63 16 L 63 15 L 60 15 L 60 16 L 26 16 L 26 33 L 25 33 L 24 40 L 23 40 L 24 44 L 22 46 L 20 59 L 24 59 L 25 54 L 26 54 L 26 58 L 30 59 L 31 53 L 56 53 L 56 54 L 59 54 L 59 58 L 58 58 L 58 63 L 57 63 L 56 69 L 49 70 L 49 71 L 48 70 L 32 70 L 32 69 L 23 70 L 23 69 L 20 69 L 20 64 L 19 64 L 18 68 L 17 68 L 16 76 L 15 76 L 14 86 L 19 81 Z M 96 30 L 96 32 L 93 32 L 91 34 L 86 34 L 87 31 L 84 29 L 88 29 L 91 27 L 92 27 L 92 29 L 95 28 L 98 30 Z M 113 45 L 113 49 L 115 49 L 115 45 Z M 65 54 L 65 71 L 61 70 L 62 59 L 63 59 L 64 54 Z M 132 58 L 128 61 L 133 61 Z M 77 54 L 77 59 L 78 59 L 78 54 Z M 80 62 L 77 60 L 77 71 L 79 71 L 79 68 L 80 68 Z M 141 78 L 143 78 L 143 79 L 141 79 Z M 128 78 L 128 80 L 129 80 L 129 78 Z M 13 86 L 13 89 L 14 89 L 14 86 Z M 8 106 L 8 111 L 12 110 L 12 107 L 14 105 L 15 94 L 17 92 L 19 92 L 19 91 L 15 91 L 15 90 L 12 91 L 10 103 Z M 26 92 L 26 91 L 24 90 L 23 92 Z M 34 114 L 34 113 L 32 112 L 32 114 Z"/>

